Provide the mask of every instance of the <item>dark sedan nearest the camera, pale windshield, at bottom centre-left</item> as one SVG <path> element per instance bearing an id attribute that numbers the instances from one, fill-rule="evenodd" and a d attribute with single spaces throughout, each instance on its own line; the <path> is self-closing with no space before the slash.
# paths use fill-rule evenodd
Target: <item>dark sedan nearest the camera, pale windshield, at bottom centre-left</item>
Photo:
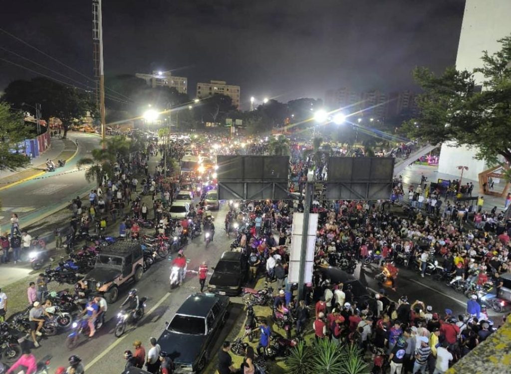
<path id="1" fill-rule="evenodd" d="M 190 295 L 158 338 L 161 350 L 174 362 L 174 373 L 198 373 L 211 358 L 211 350 L 227 320 L 227 296 Z"/>

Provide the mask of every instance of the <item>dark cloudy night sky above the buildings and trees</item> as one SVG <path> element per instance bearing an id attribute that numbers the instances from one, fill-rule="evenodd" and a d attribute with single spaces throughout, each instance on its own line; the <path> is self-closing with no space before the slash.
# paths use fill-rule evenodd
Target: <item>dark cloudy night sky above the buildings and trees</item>
<path id="1" fill-rule="evenodd" d="M 176 69 L 250 96 L 323 98 L 351 86 L 414 88 L 416 65 L 454 64 L 463 0 L 103 0 L 105 74 Z M 3 4 L 0 28 L 92 78 L 90 0 Z M 0 32 L 0 46 L 79 82 L 84 77 Z M 0 58 L 55 73 L 0 49 Z M 34 73 L 0 60 L 0 87 Z"/>

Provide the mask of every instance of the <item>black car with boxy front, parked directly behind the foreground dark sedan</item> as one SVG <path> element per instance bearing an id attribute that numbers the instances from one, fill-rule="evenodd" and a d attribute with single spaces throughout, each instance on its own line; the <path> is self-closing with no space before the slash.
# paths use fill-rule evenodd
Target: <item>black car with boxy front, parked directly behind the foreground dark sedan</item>
<path id="1" fill-rule="evenodd" d="M 239 295 L 247 278 L 247 269 L 242 266 L 243 261 L 247 260 L 240 252 L 223 252 L 217 266 L 213 268 L 207 289 L 219 295 Z"/>

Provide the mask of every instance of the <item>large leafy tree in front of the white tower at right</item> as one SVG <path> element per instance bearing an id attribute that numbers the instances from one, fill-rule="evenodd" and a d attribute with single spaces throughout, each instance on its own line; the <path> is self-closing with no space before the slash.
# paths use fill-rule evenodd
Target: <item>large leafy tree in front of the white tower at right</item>
<path id="1" fill-rule="evenodd" d="M 413 71 L 424 90 L 417 97 L 420 114 L 404 124 L 412 137 L 431 144 L 454 141 L 456 146 L 477 147 L 476 157 L 511 162 L 511 36 L 499 40 L 499 52 L 482 55 L 474 72 L 449 67 L 435 76 L 427 68 Z M 483 76 L 484 90 L 475 85 L 474 73 Z"/>

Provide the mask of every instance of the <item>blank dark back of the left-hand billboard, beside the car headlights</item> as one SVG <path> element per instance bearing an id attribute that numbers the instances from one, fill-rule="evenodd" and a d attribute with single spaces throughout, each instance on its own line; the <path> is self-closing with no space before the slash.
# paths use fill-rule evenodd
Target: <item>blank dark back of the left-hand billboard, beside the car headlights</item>
<path id="1" fill-rule="evenodd" d="M 291 199 L 288 156 L 217 156 L 220 200 Z"/>

